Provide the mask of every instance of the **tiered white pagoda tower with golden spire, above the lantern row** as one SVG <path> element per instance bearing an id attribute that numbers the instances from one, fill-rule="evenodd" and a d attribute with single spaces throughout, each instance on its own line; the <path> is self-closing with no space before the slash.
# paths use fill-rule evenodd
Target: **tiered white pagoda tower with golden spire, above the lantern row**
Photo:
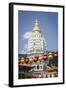
<path id="1" fill-rule="evenodd" d="M 28 38 L 27 54 L 39 55 L 46 51 L 46 41 L 39 28 L 38 20 L 35 20 L 33 31 Z"/>

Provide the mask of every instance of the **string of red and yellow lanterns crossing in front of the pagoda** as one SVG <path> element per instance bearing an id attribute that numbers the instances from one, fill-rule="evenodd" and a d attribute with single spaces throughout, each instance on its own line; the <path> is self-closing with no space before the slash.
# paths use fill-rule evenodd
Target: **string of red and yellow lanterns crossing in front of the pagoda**
<path id="1" fill-rule="evenodd" d="M 32 56 L 32 57 L 21 57 L 19 59 L 19 64 L 32 64 L 36 62 L 42 62 L 47 60 L 53 60 L 58 58 L 58 52 L 49 52 L 48 54 Z"/>

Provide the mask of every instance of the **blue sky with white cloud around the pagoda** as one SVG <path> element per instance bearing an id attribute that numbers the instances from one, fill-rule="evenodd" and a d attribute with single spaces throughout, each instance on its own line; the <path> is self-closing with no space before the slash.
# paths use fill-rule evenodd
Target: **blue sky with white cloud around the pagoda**
<path id="1" fill-rule="evenodd" d="M 29 32 L 32 32 L 35 19 L 38 19 L 40 30 L 46 39 L 47 50 L 58 49 L 58 13 L 57 12 L 18 12 L 18 53 L 26 53 L 25 44 Z"/>

